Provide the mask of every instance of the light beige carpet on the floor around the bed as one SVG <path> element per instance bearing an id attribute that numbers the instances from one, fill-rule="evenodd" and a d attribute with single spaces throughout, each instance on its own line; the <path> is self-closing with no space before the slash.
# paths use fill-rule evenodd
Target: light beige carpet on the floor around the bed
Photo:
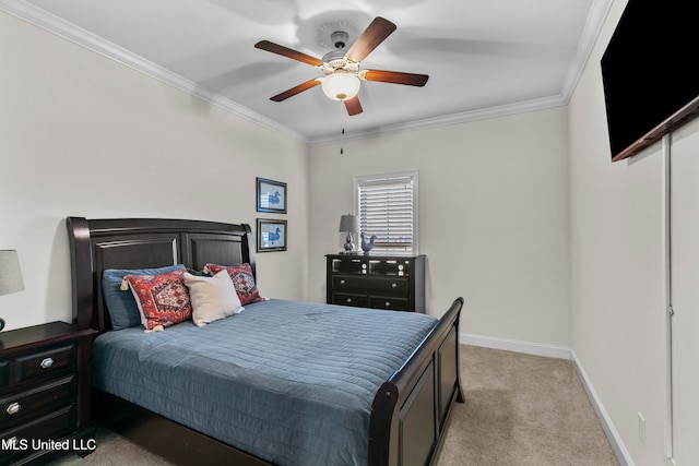
<path id="1" fill-rule="evenodd" d="M 619 464 L 571 361 L 462 345 L 460 362 L 465 403 L 454 404 L 436 466 Z M 170 465 L 103 427 L 96 442 L 51 466 Z"/>

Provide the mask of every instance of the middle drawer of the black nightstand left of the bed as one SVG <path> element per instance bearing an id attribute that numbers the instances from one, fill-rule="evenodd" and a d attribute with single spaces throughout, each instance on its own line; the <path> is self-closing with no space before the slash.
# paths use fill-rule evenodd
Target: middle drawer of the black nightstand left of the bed
<path id="1" fill-rule="evenodd" d="M 73 375 L 5 396 L 0 399 L 0 430 L 35 419 L 74 402 L 75 378 Z"/>

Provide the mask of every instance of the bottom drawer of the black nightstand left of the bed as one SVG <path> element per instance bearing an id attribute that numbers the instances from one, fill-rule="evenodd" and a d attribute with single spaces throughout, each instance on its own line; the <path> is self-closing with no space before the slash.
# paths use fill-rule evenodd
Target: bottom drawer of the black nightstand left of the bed
<path id="1" fill-rule="evenodd" d="M 0 445 L 8 447 L 0 450 L 0 464 L 9 464 L 13 459 L 33 453 L 33 440 L 60 440 L 67 433 L 75 430 L 75 406 L 67 406 L 32 422 L 11 430 L 0 431 Z M 11 446 L 14 445 L 14 446 Z"/>

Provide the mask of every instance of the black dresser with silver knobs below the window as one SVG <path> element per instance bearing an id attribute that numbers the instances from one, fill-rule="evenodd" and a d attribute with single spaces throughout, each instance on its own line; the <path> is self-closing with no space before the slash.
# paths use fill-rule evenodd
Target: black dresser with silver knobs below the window
<path id="1" fill-rule="evenodd" d="M 425 312 L 425 255 L 328 254 L 327 302 Z"/>

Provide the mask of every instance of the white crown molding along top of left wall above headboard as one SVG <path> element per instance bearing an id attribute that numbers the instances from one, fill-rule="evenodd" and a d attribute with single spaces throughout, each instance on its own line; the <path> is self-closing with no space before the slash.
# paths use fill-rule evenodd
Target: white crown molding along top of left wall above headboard
<path id="1" fill-rule="evenodd" d="M 247 120 L 254 121 L 272 131 L 284 134 L 297 142 L 308 145 L 309 139 L 291 130 L 287 127 L 263 117 L 247 107 L 227 99 L 218 94 L 201 87 L 199 84 L 187 80 L 179 74 L 173 73 L 165 68 L 153 63 L 122 47 L 117 46 L 104 38 L 78 27 L 54 14 L 48 13 L 31 3 L 17 0 L 0 0 L 0 11 L 5 12 L 28 24 L 85 47 L 96 53 L 107 57 L 116 62 L 129 67 L 135 71 L 144 73 L 165 84 L 168 84 L 187 94 L 198 97 L 209 104 L 215 105 L 224 110 L 230 111 Z"/>

